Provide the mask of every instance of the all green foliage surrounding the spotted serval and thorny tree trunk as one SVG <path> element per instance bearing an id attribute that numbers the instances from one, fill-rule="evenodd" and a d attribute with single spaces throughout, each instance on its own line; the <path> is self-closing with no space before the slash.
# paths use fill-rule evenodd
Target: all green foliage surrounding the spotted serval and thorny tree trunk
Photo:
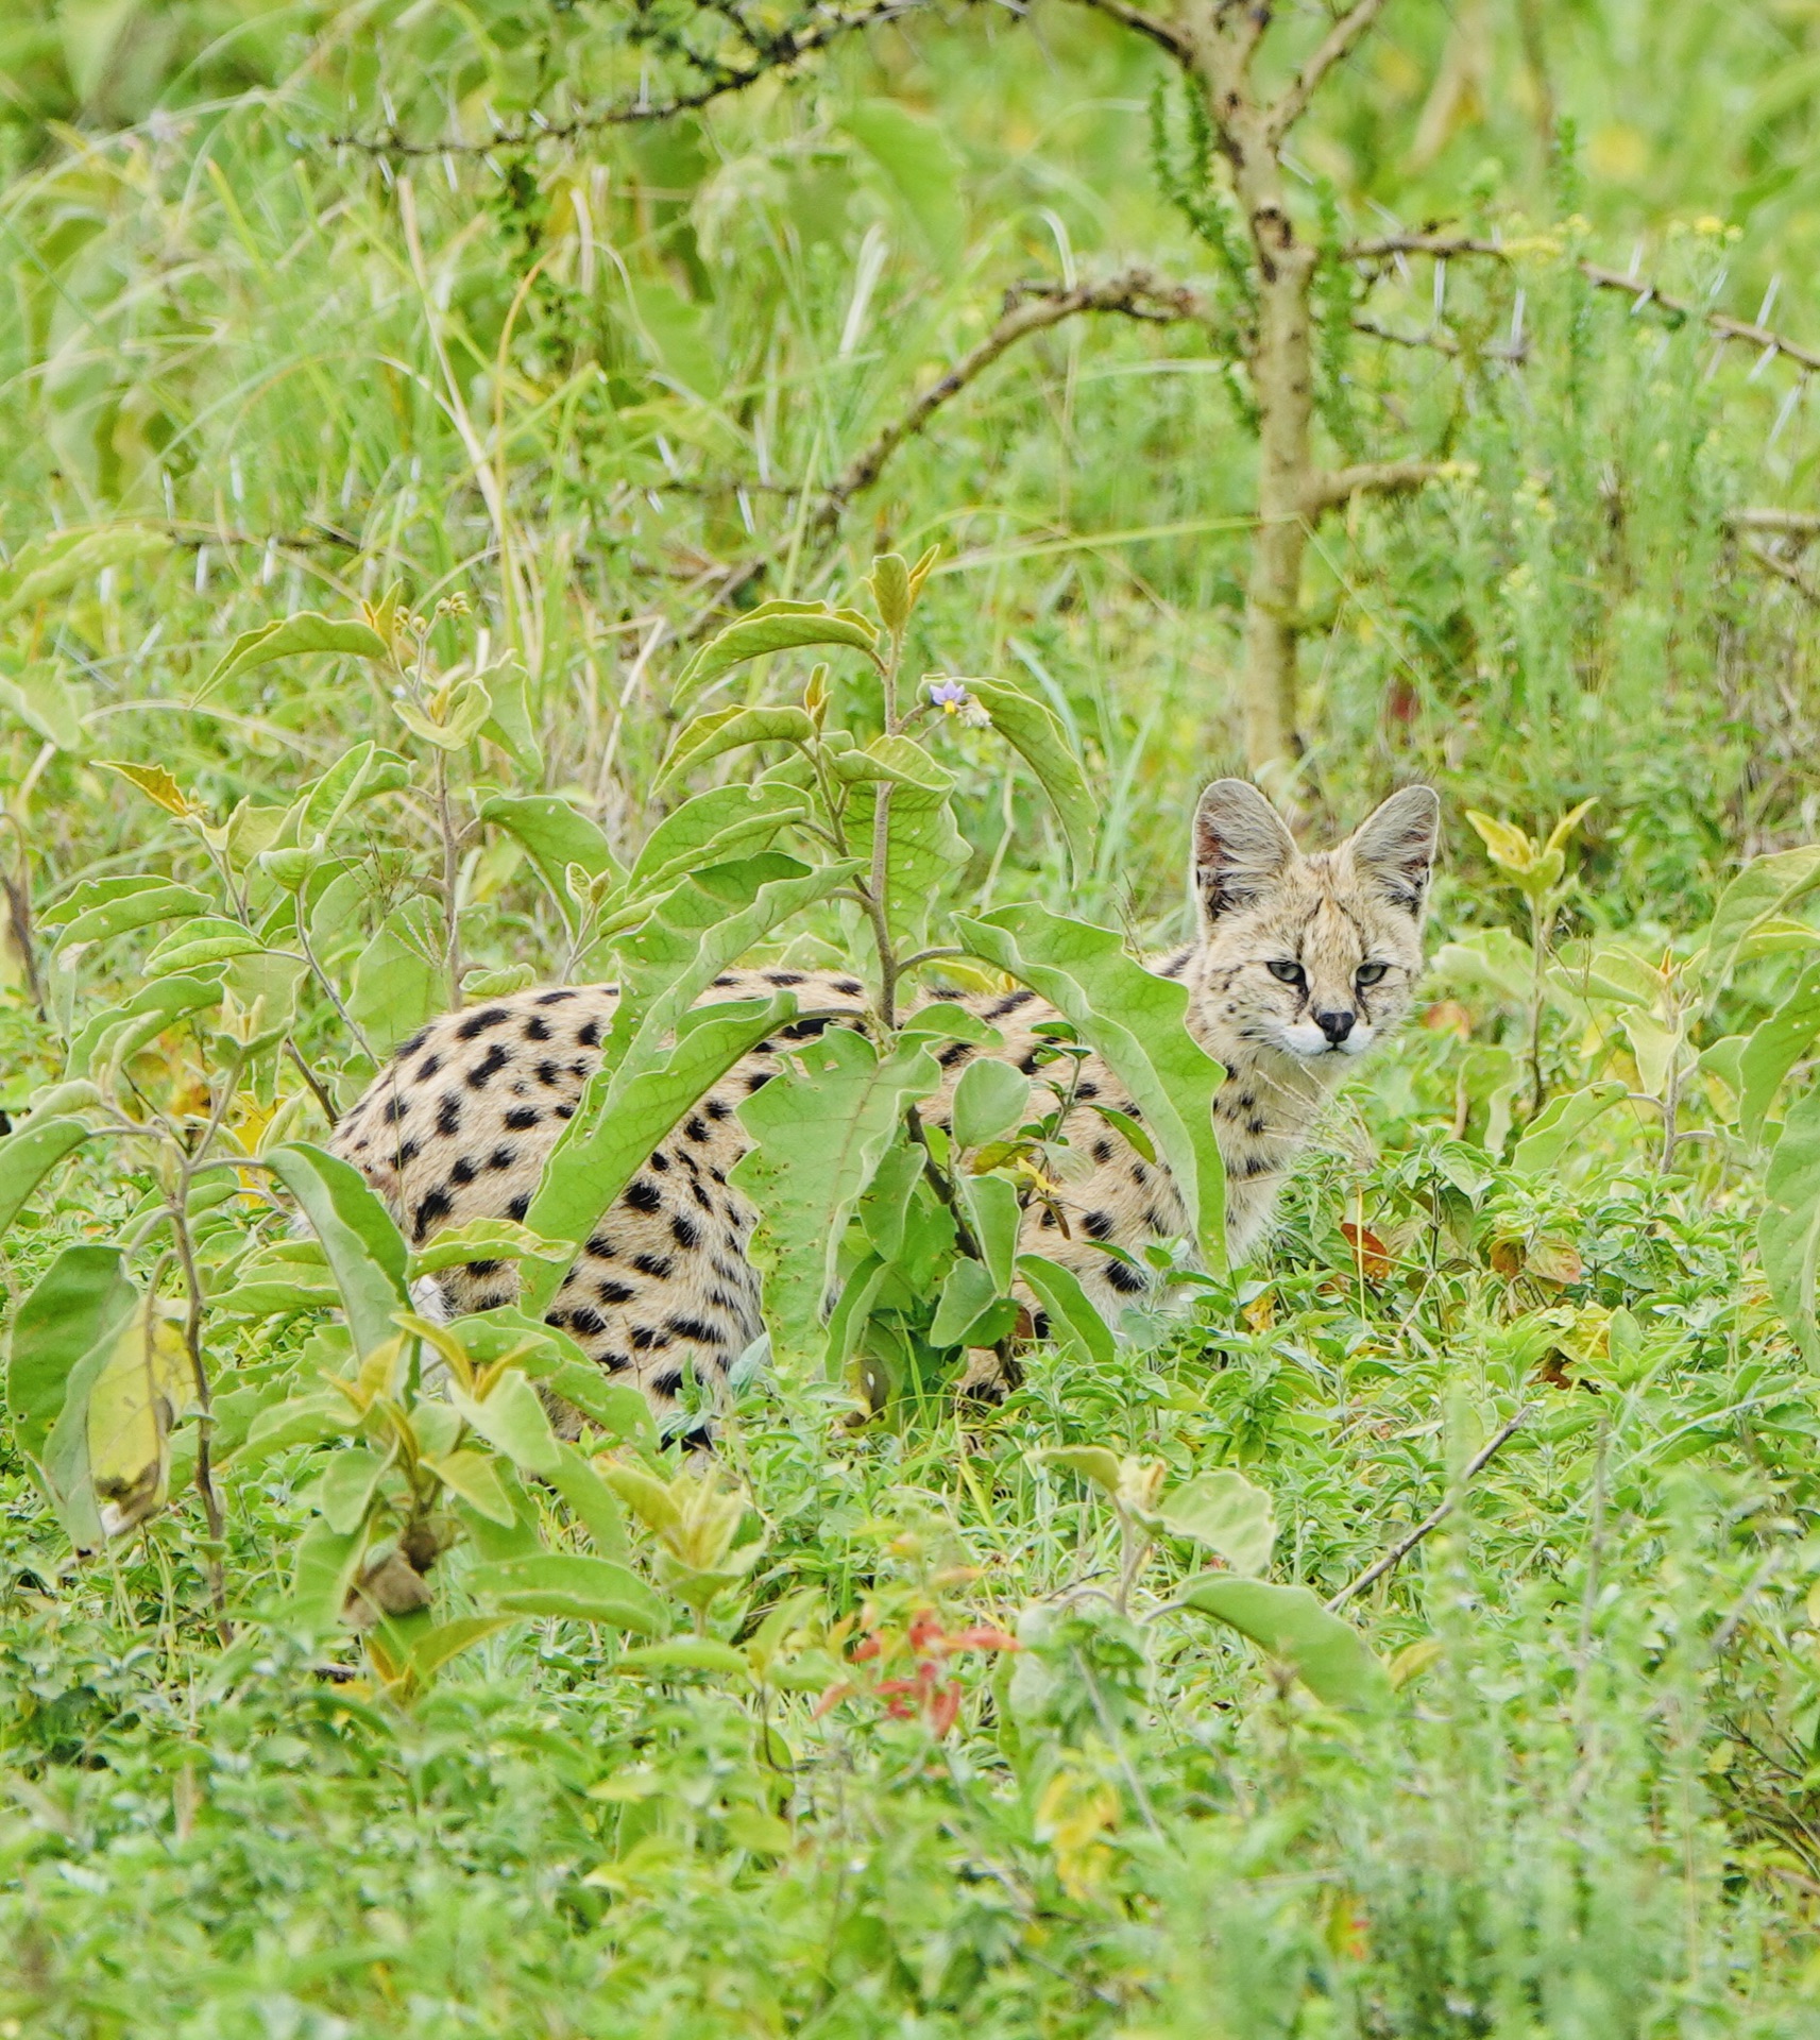
<path id="1" fill-rule="evenodd" d="M 1298 131 L 1326 455 L 1440 463 L 1320 528 L 1298 800 L 1443 789 L 1434 1004 L 1267 1263 L 1116 1348 L 1057 1291 L 969 1410 L 1045 1128 L 981 1085 L 918 1177 L 890 983 L 1049 971 L 1065 1063 L 1132 1006 L 1059 916 L 1183 934 L 1247 302 L 1141 39 L 890 12 L 0 24 L 0 2036 L 1816 2034 L 1816 441 L 1708 314 L 1820 333 L 1820 16 L 1392 0 Z M 1132 261 L 1208 318 L 853 479 Z M 592 1173 L 486 1240 L 553 1279 L 788 1020 L 671 1036 L 716 942 L 886 1012 L 761 1093 L 708 1477 L 528 1320 L 400 1328 L 318 1142 L 451 998 L 624 973 Z"/>

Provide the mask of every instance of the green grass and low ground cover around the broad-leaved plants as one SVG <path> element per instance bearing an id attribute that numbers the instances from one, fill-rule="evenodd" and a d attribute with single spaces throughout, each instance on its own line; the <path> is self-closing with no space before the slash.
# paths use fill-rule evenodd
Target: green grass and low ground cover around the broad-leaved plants
<path id="1" fill-rule="evenodd" d="M 843 1661 L 922 1610 L 1028 1648 L 951 1661 L 947 1734 L 892 1714 L 875 1661 L 822 1710 L 818 1689 L 633 1673 L 612 1630 L 557 1618 L 396 1705 L 355 1638 L 288 1614 L 320 1452 L 229 1463 L 224 1646 L 194 1497 L 78 1559 L 8 1430 L 0 2040 L 1820 2034 L 1820 1442 L 1757 1248 L 1763 1151 L 1708 1063 L 1667 1171 L 1647 1104 L 1520 1165 L 1522 985 L 1473 947 L 1522 922 L 1461 818 L 1547 830 L 1596 798 L 1561 936 L 1649 963 L 1687 963 L 1747 857 L 1820 836 L 1814 567 L 1734 520 L 1812 502 L 1812 396 L 1569 261 L 1626 269 L 1638 247 L 1665 290 L 1742 318 L 1779 275 L 1769 322 L 1820 335 L 1820 43 L 1793 6 L 1534 12 L 1577 169 L 1545 157 L 1506 8 L 1398 0 L 1304 137 L 1349 237 L 1379 231 L 1373 206 L 1553 235 L 1508 269 L 1451 265 L 1461 353 L 1355 335 L 1322 357 L 1334 447 L 1455 463 L 1324 526 L 1304 651 L 1310 826 L 1414 773 L 1447 798 L 1432 947 L 1457 947 L 1428 989 L 1453 1004 L 1349 1093 L 1269 1263 L 1112 1367 L 1041 1355 L 994 1412 L 934 1397 L 867 1428 L 841 1387 L 767 1385 L 726 1422 L 767 1536 L 755 1610 L 810 1595 L 812 1644 Z M 190 706 L 273 616 L 349 614 L 392 581 L 424 614 L 461 594 L 471 622 L 439 622 L 439 657 L 475 626 L 516 649 L 543 751 L 535 773 L 496 747 L 463 773 L 567 794 L 630 855 L 730 569 L 753 569 L 737 602 L 849 600 L 875 551 L 941 543 L 912 671 L 1041 694 L 1102 802 L 1071 881 L 1034 785 L 955 734 L 969 863 L 945 904 L 1037 898 L 1139 947 L 1179 938 L 1185 814 L 1238 755 L 1253 455 L 1210 343 L 1061 326 L 947 406 L 830 539 L 794 494 L 1008 284 L 1126 259 L 1208 282 L 1151 180 L 1143 47 L 1057 0 L 928 10 L 706 120 L 498 167 L 418 159 L 406 202 L 326 137 L 373 135 L 382 92 L 420 137 L 604 102 L 637 86 L 622 18 L 196 0 L 124 10 L 112 45 L 100 20 L 35 4 L 0 31 L 0 541 L 16 559 L 59 526 L 151 532 L 0 624 L 0 869 L 39 916 L 96 875 L 214 883 L 106 759 L 165 765 L 216 820 L 288 804 L 357 738 L 422 763 L 353 661 Z M 924 122 L 896 155 L 875 102 Z M 1408 335 L 1432 308 L 1428 265 L 1361 304 Z M 1514 333 L 1520 365 L 1485 353 Z M 714 700 L 794 698 L 804 673 L 777 659 Z M 837 710 L 871 714 L 841 673 Z M 86 720 L 49 741 L 59 716 Z M 322 955 L 343 1002 L 437 879 L 424 785 L 349 832 L 359 883 Z M 559 967 L 559 916 L 508 838 L 475 838 L 461 885 L 469 961 Z M 1702 993 L 1696 1049 L 1787 991 L 1816 938 L 1793 914 L 1785 951 Z M 139 989 L 161 932 L 71 959 L 45 930 L 43 1016 L 0 942 L 0 1108 Z M 830 912 L 788 955 L 855 940 Z M 296 1040 L 347 1104 L 369 1065 L 316 989 Z M 135 1081 L 182 1104 L 220 1055 L 173 1030 Z M 1543 1061 L 1551 1095 L 1649 1087 L 1622 1016 L 1571 996 Z M 296 1069 L 271 1083 L 320 1136 Z M 118 1238 L 151 1187 L 92 1151 L 53 1179 L 0 1248 L 8 1322 L 59 1248 Z M 210 1267 L 280 1224 L 243 1200 Z M 1361 1269 L 1343 1224 L 1383 1261 Z M 282 1379 L 320 1322 L 212 1320 L 216 1389 Z M 1175 1605 L 1185 1542 L 1118 1612 L 1110 1508 L 1037 1457 L 1065 1444 L 1173 1479 L 1243 1469 L 1275 1497 L 1273 1577 L 1322 1597 L 1453 1495 L 1347 1610 L 1396 1710 L 1322 1707 Z M 551 1493 L 537 1510 L 579 1548 Z M 439 1571 L 449 1612 L 467 1569 Z"/>

